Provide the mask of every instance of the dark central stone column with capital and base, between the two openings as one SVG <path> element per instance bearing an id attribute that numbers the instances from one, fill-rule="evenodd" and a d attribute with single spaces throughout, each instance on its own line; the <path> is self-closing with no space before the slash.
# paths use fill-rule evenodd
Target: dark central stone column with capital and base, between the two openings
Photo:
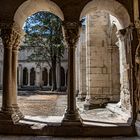
<path id="1" fill-rule="evenodd" d="M 65 39 L 68 45 L 68 103 L 63 124 L 80 125 L 75 95 L 75 48 L 79 39 L 80 23 L 64 22 Z"/>

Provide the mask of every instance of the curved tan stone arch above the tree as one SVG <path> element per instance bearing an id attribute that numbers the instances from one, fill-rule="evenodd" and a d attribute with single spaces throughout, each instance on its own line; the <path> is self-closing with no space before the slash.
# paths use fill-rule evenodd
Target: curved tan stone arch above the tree
<path id="1" fill-rule="evenodd" d="M 14 21 L 22 28 L 26 19 L 39 11 L 51 12 L 64 20 L 63 12 L 54 2 L 50 0 L 27 0 L 15 12 Z"/>

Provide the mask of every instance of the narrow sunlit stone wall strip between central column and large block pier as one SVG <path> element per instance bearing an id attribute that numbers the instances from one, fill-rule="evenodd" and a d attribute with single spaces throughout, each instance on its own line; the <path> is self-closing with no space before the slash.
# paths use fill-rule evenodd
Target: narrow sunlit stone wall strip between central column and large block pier
<path id="1" fill-rule="evenodd" d="M 86 97 L 86 29 L 82 26 L 79 43 L 76 50 L 76 68 L 77 68 L 77 89 L 78 100 L 84 100 Z M 78 63 L 77 63 L 78 62 Z M 79 77 L 79 78 L 78 78 Z"/>

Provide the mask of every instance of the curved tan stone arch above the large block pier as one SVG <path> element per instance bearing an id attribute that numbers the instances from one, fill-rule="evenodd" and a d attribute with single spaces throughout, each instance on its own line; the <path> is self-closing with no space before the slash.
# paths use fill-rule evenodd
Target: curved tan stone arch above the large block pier
<path id="1" fill-rule="evenodd" d="M 114 16 L 119 21 L 120 29 L 126 28 L 131 24 L 130 16 L 126 8 L 114 0 L 92 0 L 83 8 L 80 15 L 80 20 L 87 14 L 98 10 L 106 11 Z"/>

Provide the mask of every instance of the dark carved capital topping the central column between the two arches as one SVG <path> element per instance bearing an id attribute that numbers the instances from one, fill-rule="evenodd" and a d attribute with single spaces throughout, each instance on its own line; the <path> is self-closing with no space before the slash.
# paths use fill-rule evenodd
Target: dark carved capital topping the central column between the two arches
<path id="1" fill-rule="evenodd" d="M 79 39 L 80 22 L 63 22 L 65 40 L 69 47 L 75 47 Z"/>

